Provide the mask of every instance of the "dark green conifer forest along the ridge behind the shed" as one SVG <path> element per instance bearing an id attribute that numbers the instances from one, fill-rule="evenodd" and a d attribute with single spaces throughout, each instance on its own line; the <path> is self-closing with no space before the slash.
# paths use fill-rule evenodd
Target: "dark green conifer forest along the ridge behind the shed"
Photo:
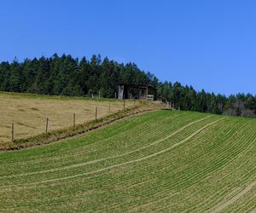
<path id="1" fill-rule="evenodd" d="M 204 89 L 196 91 L 181 83 L 160 82 L 154 74 L 140 70 L 134 63 L 102 60 L 92 55 L 81 60 L 71 55 L 52 55 L 22 62 L 0 64 L 0 90 L 42 95 L 91 96 L 114 98 L 118 83 L 151 84 L 155 98 L 172 102 L 181 110 L 256 117 L 256 95 L 215 95 Z"/>

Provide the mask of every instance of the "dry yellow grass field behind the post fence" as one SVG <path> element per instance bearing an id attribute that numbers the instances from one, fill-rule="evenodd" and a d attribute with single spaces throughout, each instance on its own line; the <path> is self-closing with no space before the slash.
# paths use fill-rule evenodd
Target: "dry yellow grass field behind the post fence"
<path id="1" fill-rule="evenodd" d="M 133 101 L 125 101 L 125 107 L 133 105 Z M 46 118 L 49 118 L 49 130 L 73 126 L 74 113 L 76 124 L 93 120 L 96 107 L 97 117 L 102 118 L 123 109 L 124 105 L 119 100 L 0 93 L 0 142 L 10 141 L 12 123 L 15 139 L 20 139 L 43 133 Z"/>

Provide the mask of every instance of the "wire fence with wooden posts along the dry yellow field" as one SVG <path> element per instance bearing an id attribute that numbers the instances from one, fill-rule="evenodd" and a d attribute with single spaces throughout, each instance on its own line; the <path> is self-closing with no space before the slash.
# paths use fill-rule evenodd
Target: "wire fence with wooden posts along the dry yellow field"
<path id="1" fill-rule="evenodd" d="M 97 120 L 108 116 L 111 113 L 118 112 L 119 110 L 135 106 L 135 100 L 123 100 L 122 102 L 119 102 L 118 105 L 109 101 L 108 103 L 104 102 L 102 104 L 97 104 L 94 108 L 90 107 L 90 109 L 84 111 L 83 114 L 81 113 L 81 110 L 79 112 L 66 113 L 64 116 L 49 114 L 45 118 L 37 118 L 36 116 L 27 114 L 26 120 L 24 118 L 18 118 L 15 122 L 12 122 L 9 125 L 0 125 L 0 142 L 15 141 L 42 133 L 48 134 L 51 130 L 61 130 L 69 127 L 75 128 L 78 124 Z"/>

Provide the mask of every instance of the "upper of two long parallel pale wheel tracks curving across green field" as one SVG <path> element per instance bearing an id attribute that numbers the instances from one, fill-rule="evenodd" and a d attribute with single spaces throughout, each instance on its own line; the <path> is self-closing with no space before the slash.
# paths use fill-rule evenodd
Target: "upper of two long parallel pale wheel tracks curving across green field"
<path id="1" fill-rule="evenodd" d="M 160 140 L 154 141 L 154 142 L 148 144 L 147 146 L 137 148 L 137 149 L 132 150 L 130 152 L 122 153 L 122 154 L 115 155 L 115 156 L 108 157 L 108 158 L 99 158 L 99 159 L 91 160 L 91 161 L 84 162 L 84 163 L 81 163 L 81 164 L 72 164 L 72 165 L 68 165 L 68 166 L 64 166 L 64 167 L 56 168 L 56 169 L 51 169 L 51 170 L 40 170 L 40 171 L 29 172 L 29 173 L 24 173 L 24 174 L 20 174 L 20 175 L 13 175 L 13 176 L 0 176 L 0 179 L 22 177 L 22 176 L 32 176 L 32 175 L 44 174 L 44 173 L 55 172 L 55 171 L 60 171 L 60 170 L 69 170 L 69 169 L 73 169 L 73 168 L 82 167 L 82 166 L 87 165 L 87 164 L 96 164 L 96 163 L 104 161 L 104 160 L 124 157 L 125 155 L 129 155 L 131 153 L 137 153 L 137 152 L 139 152 L 139 151 L 141 151 L 141 150 L 143 150 L 145 148 L 152 147 L 152 146 L 160 143 L 161 141 L 165 141 L 165 140 L 169 139 L 173 135 L 176 135 L 177 133 L 181 132 L 182 130 L 188 128 L 189 126 L 191 126 L 193 124 L 196 124 L 196 123 L 199 123 L 199 122 L 201 122 L 203 120 L 206 120 L 207 118 L 211 118 L 211 117 L 212 116 L 207 116 L 207 117 L 204 117 L 204 118 L 197 119 L 197 120 L 195 120 L 193 122 L 190 122 L 189 124 L 186 124 L 183 127 L 179 128 L 178 130 L 172 132 L 172 134 L 167 135 L 166 137 L 161 138 Z"/>

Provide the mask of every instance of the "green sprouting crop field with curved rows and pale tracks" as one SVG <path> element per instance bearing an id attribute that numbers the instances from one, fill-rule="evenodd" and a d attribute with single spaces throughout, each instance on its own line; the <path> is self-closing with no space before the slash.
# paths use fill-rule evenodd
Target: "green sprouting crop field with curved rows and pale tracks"
<path id="1" fill-rule="evenodd" d="M 0 211 L 255 211 L 255 153 L 256 119 L 147 112 L 0 153 Z"/>

